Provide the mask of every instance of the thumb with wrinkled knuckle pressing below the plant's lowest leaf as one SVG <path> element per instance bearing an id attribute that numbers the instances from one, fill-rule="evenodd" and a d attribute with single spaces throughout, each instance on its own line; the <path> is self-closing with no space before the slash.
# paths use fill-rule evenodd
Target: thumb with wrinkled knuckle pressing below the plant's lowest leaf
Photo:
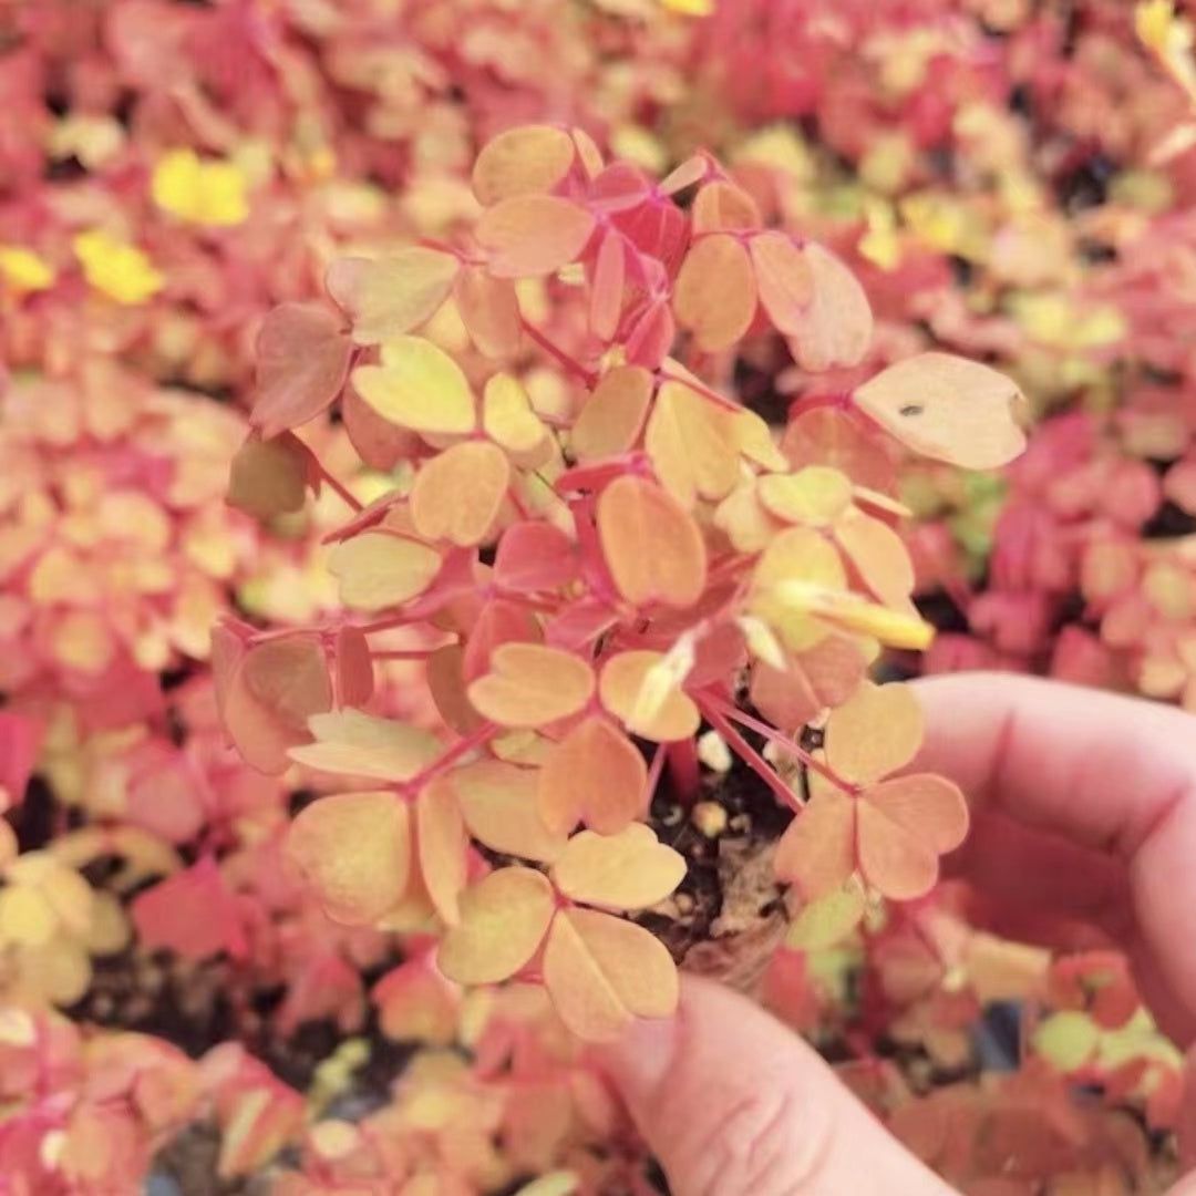
<path id="1" fill-rule="evenodd" d="M 683 977 L 681 1007 L 599 1052 L 675 1196 L 950 1196 L 800 1038 Z"/>

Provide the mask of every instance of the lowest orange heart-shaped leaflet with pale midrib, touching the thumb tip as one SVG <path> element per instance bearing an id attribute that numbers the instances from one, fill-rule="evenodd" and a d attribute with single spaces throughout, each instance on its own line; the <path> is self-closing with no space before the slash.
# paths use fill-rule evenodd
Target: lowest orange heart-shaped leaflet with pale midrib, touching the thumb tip
<path id="1" fill-rule="evenodd" d="M 544 984 L 561 1020 L 579 1037 L 620 1037 L 636 1017 L 677 1008 L 677 969 L 642 926 L 588 909 L 565 909 L 544 946 Z"/>

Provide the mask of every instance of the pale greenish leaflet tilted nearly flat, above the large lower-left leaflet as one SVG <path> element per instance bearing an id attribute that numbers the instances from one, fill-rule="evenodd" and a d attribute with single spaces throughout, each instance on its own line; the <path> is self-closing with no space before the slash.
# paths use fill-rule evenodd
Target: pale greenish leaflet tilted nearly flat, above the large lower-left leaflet
<path id="1" fill-rule="evenodd" d="M 292 748 L 291 758 L 323 773 L 408 781 L 441 750 L 431 731 L 352 707 L 313 714 L 307 725 L 316 743 Z"/>

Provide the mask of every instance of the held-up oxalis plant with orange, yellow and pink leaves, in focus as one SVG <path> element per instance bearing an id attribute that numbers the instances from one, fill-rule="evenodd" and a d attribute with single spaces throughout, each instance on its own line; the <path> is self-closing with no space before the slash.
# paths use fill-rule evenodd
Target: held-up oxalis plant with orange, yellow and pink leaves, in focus
<path id="1" fill-rule="evenodd" d="M 500 134 L 472 187 L 451 243 L 336 260 L 327 303 L 266 319 L 231 501 L 334 488 L 343 614 L 222 621 L 219 703 L 257 768 L 343 777 L 287 840 L 330 917 L 431 933 L 450 980 L 541 982 L 610 1039 L 675 1008 L 678 962 L 748 986 L 787 916 L 934 885 L 968 807 L 905 771 L 917 702 L 868 679 L 932 636 L 907 512 L 868 482 L 895 441 L 1003 464 L 1023 399 L 926 353 L 777 434 L 734 395 L 746 338 L 775 329 L 807 372 L 869 347 L 830 250 L 704 153 L 654 182 L 578 129 Z M 294 433 L 334 404 L 388 478 L 368 505 Z M 396 657 L 439 725 L 371 713 Z"/>

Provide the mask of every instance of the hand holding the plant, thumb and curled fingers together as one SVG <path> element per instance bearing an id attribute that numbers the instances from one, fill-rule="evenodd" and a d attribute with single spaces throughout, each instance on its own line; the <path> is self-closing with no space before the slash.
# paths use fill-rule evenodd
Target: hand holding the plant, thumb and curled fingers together
<path id="1" fill-rule="evenodd" d="M 971 673 L 915 683 L 916 768 L 969 794 L 944 861 L 991 898 L 997 932 L 1116 940 L 1160 1025 L 1196 1042 L 1196 722 L 1135 698 Z M 1050 915 L 1044 919 L 1044 914 Z M 1189 1052 L 1189 1084 L 1196 1050 Z M 818 1055 L 745 997 L 687 977 L 676 1017 L 602 1063 L 676 1196 L 950 1196 Z M 1196 1167 L 1196 1102 L 1180 1149 Z M 1196 1196 L 1191 1170 L 1167 1196 Z"/>

